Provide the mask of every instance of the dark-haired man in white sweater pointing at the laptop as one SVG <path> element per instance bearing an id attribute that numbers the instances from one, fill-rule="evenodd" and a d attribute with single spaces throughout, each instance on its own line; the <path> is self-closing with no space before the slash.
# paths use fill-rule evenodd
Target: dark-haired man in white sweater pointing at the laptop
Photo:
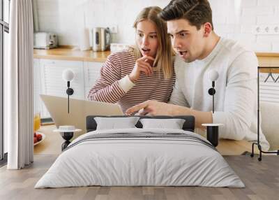
<path id="1" fill-rule="evenodd" d="M 176 85 L 169 103 L 145 101 L 127 110 L 150 115 L 194 115 L 196 127 L 221 123 L 221 138 L 257 140 L 257 57 L 235 41 L 213 31 L 207 0 L 172 0 L 160 17 L 176 51 Z M 215 112 L 208 73 L 218 71 Z M 174 105 L 175 104 L 175 105 Z M 263 150 L 269 149 L 259 130 Z"/>

